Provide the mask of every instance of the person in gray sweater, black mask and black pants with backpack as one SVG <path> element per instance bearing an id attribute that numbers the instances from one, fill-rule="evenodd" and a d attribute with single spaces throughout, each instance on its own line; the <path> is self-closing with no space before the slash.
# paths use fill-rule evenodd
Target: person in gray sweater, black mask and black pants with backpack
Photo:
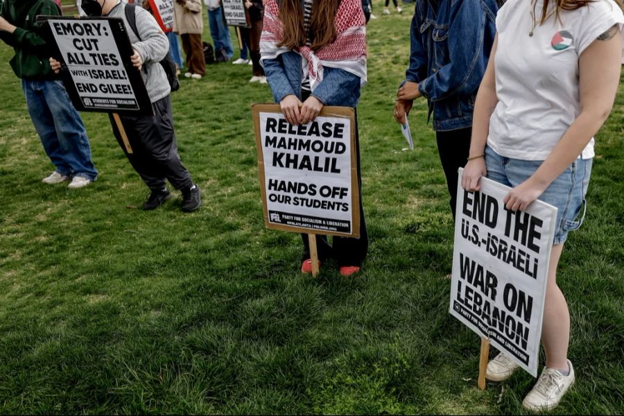
<path id="1" fill-rule="evenodd" d="M 126 4 L 121 0 L 82 0 L 82 8 L 87 15 L 118 17 L 129 28 L 125 7 Z M 165 180 L 168 180 L 175 189 L 182 191 L 182 211 L 195 211 L 202 203 L 201 190 L 193 183 L 189 171 L 182 165 L 180 155 L 177 154 L 169 95 L 171 87 L 159 63 L 169 50 L 169 41 L 147 10 L 135 8 L 135 18 L 139 37 L 134 31 L 128 30 L 132 48 L 135 50 L 131 60 L 137 70 L 141 71 L 154 115 L 120 116 L 133 150 L 132 154 L 125 150 L 111 114 L 112 129 L 130 164 L 150 189 L 144 209 L 155 209 L 171 197 L 165 184 Z M 59 62 L 51 59 L 51 64 L 53 69 L 60 69 Z"/>

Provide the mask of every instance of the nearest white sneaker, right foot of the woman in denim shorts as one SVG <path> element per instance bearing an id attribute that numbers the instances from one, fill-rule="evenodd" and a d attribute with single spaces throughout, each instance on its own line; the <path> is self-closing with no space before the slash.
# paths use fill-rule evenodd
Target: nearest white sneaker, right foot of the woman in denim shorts
<path id="1" fill-rule="evenodd" d="M 574 369 L 570 360 L 568 367 L 570 373 L 567 376 L 554 368 L 544 367 L 537 383 L 524 397 L 522 407 L 533 412 L 544 412 L 557 407 L 563 395 L 574 383 Z"/>

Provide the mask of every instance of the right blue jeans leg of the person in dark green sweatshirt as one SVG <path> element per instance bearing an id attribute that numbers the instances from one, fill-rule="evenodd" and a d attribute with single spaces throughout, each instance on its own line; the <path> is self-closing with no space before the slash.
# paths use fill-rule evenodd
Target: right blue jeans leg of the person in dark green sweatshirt
<path id="1" fill-rule="evenodd" d="M 64 160 L 73 176 L 94 181 L 98 171 L 91 160 L 91 145 L 80 114 L 73 107 L 69 94 L 61 81 L 44 81 L 43 94 L 54 125 Z"/>

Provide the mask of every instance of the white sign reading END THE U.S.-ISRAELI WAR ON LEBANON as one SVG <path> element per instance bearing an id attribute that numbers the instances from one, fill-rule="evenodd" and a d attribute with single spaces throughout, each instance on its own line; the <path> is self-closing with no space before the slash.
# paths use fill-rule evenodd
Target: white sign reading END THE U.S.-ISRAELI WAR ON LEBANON
<path id="1" fill-rule="evenodd" d="M 557 208 L 503 204 L 509 187 L 481 178 L 462 189 L 459 173 L 451 315 L 537 376 L 548 261 Z"/>

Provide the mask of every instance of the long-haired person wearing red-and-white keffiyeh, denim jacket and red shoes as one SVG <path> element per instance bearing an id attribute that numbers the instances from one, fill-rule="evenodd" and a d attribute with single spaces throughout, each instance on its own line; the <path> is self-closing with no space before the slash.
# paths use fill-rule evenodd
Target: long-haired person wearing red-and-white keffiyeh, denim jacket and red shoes
<path id="1" fill-rule="evenodd" d="M 366 83 L 365 18 L 360 0 L 267 0 L 260 40 L 261 62 L 275 101 L 288 123 L 307 124 L 323 105 L 356 107 Z M 360 178 L 357 123 L 355 141 Z M 361 188 L 361 187 L 360 187 Z M 333 257 L 340 274 L 360 270 L 368 234 L 360 196 L 360 238 L 334 236 L 333 247 L 318 239 L 320 261 Z M 302 234 L 302 272 L 312 271 Z"/>

